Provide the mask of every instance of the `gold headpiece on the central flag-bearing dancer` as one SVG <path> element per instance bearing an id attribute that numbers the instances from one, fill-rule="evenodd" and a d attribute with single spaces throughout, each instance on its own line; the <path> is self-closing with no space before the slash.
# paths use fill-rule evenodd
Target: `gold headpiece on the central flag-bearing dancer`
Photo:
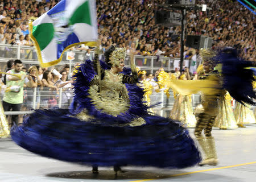
<path id="1" fill-rule="evenodd" d="M 113 67 L 119 67 L 120 60 L 125 60 L 125 56 L 126 48 L 115 47 L 115 50 L 111 53 L 109 57 L 109 63 L 112 64 Z"/>

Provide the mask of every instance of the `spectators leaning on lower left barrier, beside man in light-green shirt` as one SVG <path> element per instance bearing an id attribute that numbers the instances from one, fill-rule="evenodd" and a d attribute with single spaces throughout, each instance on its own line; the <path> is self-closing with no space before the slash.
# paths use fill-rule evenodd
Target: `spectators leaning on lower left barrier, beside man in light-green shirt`
<path id="1" fill-rule="evenodd" d="M 5 72 L 9 73 L 15 71 L 16 74 L 26 75 L 23 84 L 23 110 L 38 109 L 39 107 L 44 109 L 56 106 L 60 106 L 63 109 L 69 107 L 73 96 L 72 71 L 68 64 L 58 68 L 41 68 L 39 65 L 31 65 L 31 67 L 27 69 L 22 64 L 20 71 L 18 71 L 15 60 L 7 61 Z M 2 88 L 5 88 L 3 85 L 11 86 L 8 85 L 7 82 L 8 76 L 9 75 L 0 75 Z M 12 89 L 2 90 L 3 95 L 6 92 L 15 91 Z M 34 92 L 36 92 L 35 106 L 33 104 L 33 100 L 35 99 Z"/>

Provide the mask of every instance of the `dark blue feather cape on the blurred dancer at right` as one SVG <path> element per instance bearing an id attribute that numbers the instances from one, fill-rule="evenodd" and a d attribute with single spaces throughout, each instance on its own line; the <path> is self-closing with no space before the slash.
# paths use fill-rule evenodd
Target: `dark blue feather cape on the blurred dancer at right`
<path id="1" fill-rule="evenodd" d="M 219 50 L 213 60 L 222 65 L 222 88 L 241 104 L 255 105 L 253 99 L 256 95 L 252 85 L 255 77 L 253 69 L 249 69 L 254 63 L 240 59 L 233 48 Z"/>

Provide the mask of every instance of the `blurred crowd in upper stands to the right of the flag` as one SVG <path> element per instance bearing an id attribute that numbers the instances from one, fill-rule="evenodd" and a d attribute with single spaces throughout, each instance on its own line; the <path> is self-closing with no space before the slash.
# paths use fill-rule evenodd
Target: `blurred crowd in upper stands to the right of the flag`
<path id="1" fill-rule="evenodd" d="M 154 10 L 164 1 L 97 1 L 102 46 L 116 43 L 140 55 L 180 57 L 180 27 L 155 25 Z M 213 47 L 241 49 L 247 60 L 255 60 L 254 15 L 238 2 L 197 1 L 212 10 L 187 13 L 187 35 L 205 35 L 214 39 Z"/>

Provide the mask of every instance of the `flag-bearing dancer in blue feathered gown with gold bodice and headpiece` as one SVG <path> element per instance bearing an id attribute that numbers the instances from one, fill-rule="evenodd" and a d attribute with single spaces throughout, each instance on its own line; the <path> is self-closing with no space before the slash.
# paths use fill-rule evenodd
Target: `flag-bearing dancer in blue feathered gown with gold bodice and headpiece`
<path id="1" fill-rule="evenodd" d="M 127 165 L 199 163 L 200 153 L 180 122 L 148 113 L 133 61 L 131 69 L 124 68 L 125 52 L 110 47 L 99 74 L 97 55 L 77 67 L 71 109 L 36 110 L 11 130 L 14 142 L 42 156 L 91 165 L 93 172 L 98 166 L 114 166 L 117 173 Z"/>

